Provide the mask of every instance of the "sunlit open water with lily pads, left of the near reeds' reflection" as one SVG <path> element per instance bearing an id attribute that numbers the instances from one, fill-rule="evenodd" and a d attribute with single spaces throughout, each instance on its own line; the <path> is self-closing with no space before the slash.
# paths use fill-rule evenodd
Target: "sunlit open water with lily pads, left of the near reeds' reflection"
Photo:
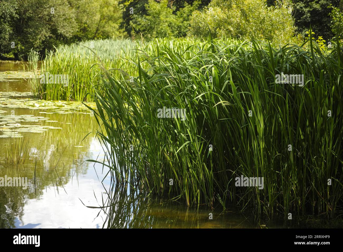
<path id="1" fill-rule="evenodd" d="M 96 204 L 107 181 L 102 166 L 84 162 L 104 156 L 92 133 L 96 121 L 80 104 L 22 93 L 27 80 L 13 79 L 20 67 L 0 62 L 0 71 L 11 73 L 0 79 L 0 177 L 26 177 L 28 187 L 0 187 L 0 228 L 100 227 L 96 209 L 80 201 Z"/>

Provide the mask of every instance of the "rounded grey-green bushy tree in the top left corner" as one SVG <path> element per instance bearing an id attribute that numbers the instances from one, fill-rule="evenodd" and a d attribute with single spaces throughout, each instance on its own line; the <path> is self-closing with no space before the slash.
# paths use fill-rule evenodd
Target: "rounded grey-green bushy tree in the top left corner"
<path id="1" fill-rule="evenodd" d="M 49 40 L 61 43 L 76 31 L 73 10 L 64 0 L 4 0 L 0 10 L 5 57 L 26 57 L 31 48 L 41 50 Z"/>

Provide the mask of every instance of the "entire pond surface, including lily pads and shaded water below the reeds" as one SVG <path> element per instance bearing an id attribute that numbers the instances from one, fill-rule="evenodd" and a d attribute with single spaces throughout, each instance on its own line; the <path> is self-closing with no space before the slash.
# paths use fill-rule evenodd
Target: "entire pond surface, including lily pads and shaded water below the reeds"
<path id="1" fill-rule="evenodd" d="M 114 185 L 107 168 L 85 161 L 105 157 L 92 113 L 78 102 L 35 99 L 27 82 L 33 72 L 23 69 L 0 61 L 0 179 L 27 178 L 21 187 L 0 183 L 0 228 L 273 228 L 321 221 L 256 223 L 235 209 L 190 208 Z"/>

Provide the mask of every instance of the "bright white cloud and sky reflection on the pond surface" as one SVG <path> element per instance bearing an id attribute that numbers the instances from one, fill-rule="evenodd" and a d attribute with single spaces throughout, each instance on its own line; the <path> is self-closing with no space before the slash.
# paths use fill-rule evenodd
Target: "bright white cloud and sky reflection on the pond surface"
<path id="1" fill-rule="evenodd" d="M 93 141 L 90 150 L 93 158 L 99 154 L 100 146 L 98 141 Z M 24 206 L 23 223 L 16 220 L 17 228 L 99 228 L 103 226 L 103 215 L 100 212 L 97 216 L 98 208 L 88 208 L 86 206 L 99 206 L 102 203 L 102 195 L 105 192 L 104 186 L 108 190 L 110 178 L 106 178 L 101 183 L 107 173 L 102 166 L 85 162 L 83 167 L 87 169 L 84 174 L 76 176 L 67 184 L 63 185 L 64 190 L 59 186 L 48 187 L 43 191 L 39 199 L 31 199 Z M 85 170 L 85 169 L 84 169 Z M 99 177 L 99 179 L 98 179 Z M 99 181 L 100 180 L 100 181 Z M 96 198 L 95 198 L 95 196 Z M 104 194 L 106 197 L 106 194 Z M 98 200 L 98 202 L 97 202 Z M 82 204 L 82 202 L 83 204 Z"/>

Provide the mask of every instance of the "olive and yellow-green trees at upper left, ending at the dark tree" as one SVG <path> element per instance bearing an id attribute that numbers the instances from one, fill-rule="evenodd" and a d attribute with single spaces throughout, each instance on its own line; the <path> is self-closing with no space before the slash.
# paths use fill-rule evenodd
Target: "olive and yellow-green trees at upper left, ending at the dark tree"
<path id="1" fill-rule="evenodd" d="M 123 36 L 120 22 L 112 0 L 1 0 L 0 57 L 26 58 L 31 48 L 44 53 L 81 39 Z"/>

